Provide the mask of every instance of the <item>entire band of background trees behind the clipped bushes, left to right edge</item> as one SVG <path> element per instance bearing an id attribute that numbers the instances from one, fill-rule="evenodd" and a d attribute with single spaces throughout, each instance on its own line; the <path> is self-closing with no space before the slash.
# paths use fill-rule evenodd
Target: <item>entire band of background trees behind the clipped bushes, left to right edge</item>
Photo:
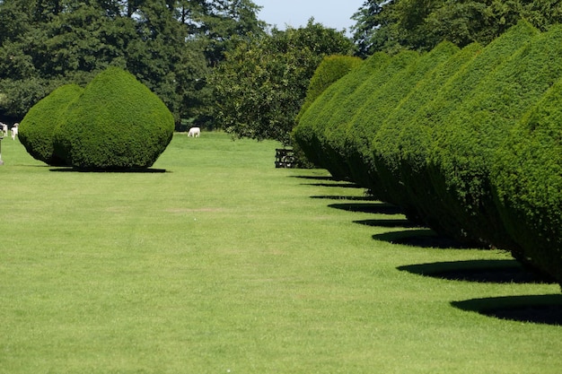
<path id="1" fill-rule="evenodd" d="M 313 20 L 271 28 L 250 0 L 0 0 L 0 117 L 19 121 L 57 87 L 84 86 L 117 65 L 164 101 L 177 130 L 222 127 L 287 143 L 322 57 L 428 51 L 443 40 L 486 46 L 522 18 L 548 30 L 561 6 L 367 0 L 346 34 Z"/>

